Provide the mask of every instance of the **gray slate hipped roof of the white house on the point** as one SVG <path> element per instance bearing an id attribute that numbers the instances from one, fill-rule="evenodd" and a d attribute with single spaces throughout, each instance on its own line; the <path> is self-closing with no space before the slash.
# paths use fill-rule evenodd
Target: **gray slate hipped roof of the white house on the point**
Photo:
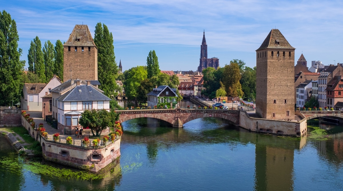
<path id="1" fill-rule="evenodd" d="M 81 90 L 81 91 L 80 91 Z M 91 91 L 90 91 L 91 90 Z M 59 101 L 109 101 L 106 95 L 102 94 L 92 86 L 80 85 L 56 98 Z"/>

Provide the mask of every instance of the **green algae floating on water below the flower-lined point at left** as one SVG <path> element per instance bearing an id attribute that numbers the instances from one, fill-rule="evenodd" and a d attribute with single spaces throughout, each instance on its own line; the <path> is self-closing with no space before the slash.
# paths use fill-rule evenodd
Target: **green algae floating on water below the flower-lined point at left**
<path id="1" fill-rule="evenodd" d="M 59 178 L 60 180 L 65 179 L 76 179 L 76 180 L 99 180 L 104 177 L 98 174 L 84 171 L 72 171 L 65 168 L 56 168 L 53 166 L 41 164 L 40 162 L 29 161 L 24 162 L 23 158 L 15 160 L 9 157 L 2 157 L 0 159 L 0 170 L 10 170 L 17 175 L 21 174 L 22 170 L 31 171 L 35 174 L 44 175 L 48 177 Z"/>

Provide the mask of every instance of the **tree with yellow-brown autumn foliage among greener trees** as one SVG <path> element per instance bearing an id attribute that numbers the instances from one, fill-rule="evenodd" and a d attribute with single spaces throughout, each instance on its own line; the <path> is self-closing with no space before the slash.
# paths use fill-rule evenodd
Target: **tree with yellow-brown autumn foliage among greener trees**
<path id="1" fill-rule="evenodd" d="M 242 97 L 242 86 L 239 83 L 241 78 L 239 65 L 235 62 L 230 62 L 229 65 L 225 65 L 223 71 L 223 83 L 225 85 L 226 94 L 232 97 Z"/>

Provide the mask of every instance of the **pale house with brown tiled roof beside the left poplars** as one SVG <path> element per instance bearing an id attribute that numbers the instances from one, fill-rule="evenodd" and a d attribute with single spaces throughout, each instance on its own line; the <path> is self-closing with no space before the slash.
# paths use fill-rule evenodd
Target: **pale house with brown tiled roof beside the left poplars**
<path id="1" fill-rule="evenodd" d="M 23 96 L 21 98 L 22 110 L 26 111 L 42 111 L 42 97 L 48 92 L 61 85 L 60 78 L 52 77 L 48 83 L 24 83 Z"/>

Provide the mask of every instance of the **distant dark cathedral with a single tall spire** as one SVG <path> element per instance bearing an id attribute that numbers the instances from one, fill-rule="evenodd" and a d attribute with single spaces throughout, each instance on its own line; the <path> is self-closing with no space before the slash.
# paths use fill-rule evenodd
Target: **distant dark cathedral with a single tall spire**
<path id="1" fill-rule="evenodd" d="M 198 71 L 202 72 L 203 69 L 207 67 L 213 67 L 217 69 L 219 66 L 219 59 L 216 57 L 207 58 L 207 44 L 205 39 L 205 31 L 204 35 L 202 36 L 202 43 L 200 46 L 200 64 L 198 66 Z"/>

